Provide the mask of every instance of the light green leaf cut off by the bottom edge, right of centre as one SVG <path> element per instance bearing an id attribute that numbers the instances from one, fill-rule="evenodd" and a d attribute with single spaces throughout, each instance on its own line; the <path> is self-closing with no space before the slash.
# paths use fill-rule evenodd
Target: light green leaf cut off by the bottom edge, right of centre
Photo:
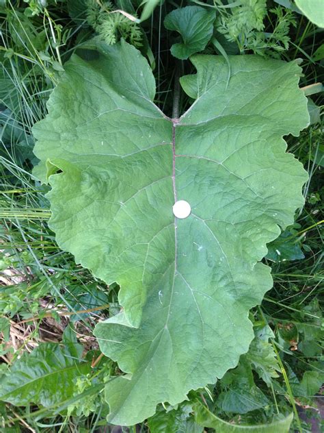
<path id="1" fill-rule="evenodd" d="M 288 433 L 293 421 L 293 414 L 278 421 L 273 421 L 269 424 L 259 425 L 234 425 L 223 421 L 219 417 L 216 417 L 202 404 L 196 404 L 195 409 L 195 421 L 203 425 L 204 427 L 213 428 L 215 432 L 221 433 Z"/>

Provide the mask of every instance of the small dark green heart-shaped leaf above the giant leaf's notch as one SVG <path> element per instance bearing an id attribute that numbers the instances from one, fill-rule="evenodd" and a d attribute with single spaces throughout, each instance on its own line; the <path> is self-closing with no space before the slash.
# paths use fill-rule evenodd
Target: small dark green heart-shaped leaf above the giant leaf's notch
<path id="1" fill-rule="evenodd" d="M 183 42 L 171 47 L 171 53 L 178 59 L 187 59 L 189 55 L 202 51 L 213 36 L 215 11 L 187 6 L 172 10 L 165 16 L 164 26 L 178 32 Z"/>

